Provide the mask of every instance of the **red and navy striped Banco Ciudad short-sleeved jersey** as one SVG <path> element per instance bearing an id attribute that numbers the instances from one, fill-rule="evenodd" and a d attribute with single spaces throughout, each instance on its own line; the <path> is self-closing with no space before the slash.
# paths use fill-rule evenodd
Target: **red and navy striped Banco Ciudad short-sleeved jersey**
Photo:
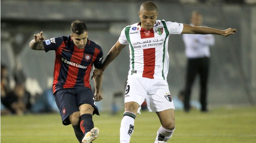
<path id="1" fill-rule="evenodd" d="M 50 38 L 43 45 L 45 52 L 55 50 L 53 92 L 79 86 L 91 88 L 92 65 L 98 69 L 103 60 L 99 45 L 88 39 L 84 49 L 78 49 L 71 36 Z"/>

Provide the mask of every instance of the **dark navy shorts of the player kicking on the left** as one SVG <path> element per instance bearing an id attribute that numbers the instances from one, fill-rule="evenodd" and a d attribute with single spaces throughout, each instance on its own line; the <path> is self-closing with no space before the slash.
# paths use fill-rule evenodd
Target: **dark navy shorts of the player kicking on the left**
<path id="1" fill-rule="evenodd" d="M 54 93 L 56 105 L 60 110 L 63 125 L 71 124 L 69 116 L 79 111 L 82 104 L 90 104 L 94 107 L 93 114 L 99 115 L 98 108 L 95 105 L 92 89 L 89 87 L 74 87 L 60 89 Z"/>

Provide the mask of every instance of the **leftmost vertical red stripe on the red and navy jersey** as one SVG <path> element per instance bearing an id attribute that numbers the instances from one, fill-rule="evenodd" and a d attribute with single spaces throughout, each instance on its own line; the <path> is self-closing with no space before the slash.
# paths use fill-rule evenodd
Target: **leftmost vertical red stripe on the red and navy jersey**
<path id="1" fill-rule="evenodd" d="M 62 64 L 61 53 L 62 53 L 63 47 L 65 47 L 64 43 L 62 43 L 60 45 L 60 47 L 55 52 L 56 57 L 55 57 L 54 74 L 53 74 L 53 87 L 52 87 L 53 93 L 56 91 L 56 84 L 59 82 L 58 78 L 59 78 L 59 74 L 60 74 L 60 66 Z"/>

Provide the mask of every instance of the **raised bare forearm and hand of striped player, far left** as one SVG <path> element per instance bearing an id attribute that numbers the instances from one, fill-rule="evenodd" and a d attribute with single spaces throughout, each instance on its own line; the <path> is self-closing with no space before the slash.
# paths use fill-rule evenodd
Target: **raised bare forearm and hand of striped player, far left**
<path id="1" fill-rule="evenodd" d="M 29 43 L 29 47 L 33 50 L 45 50 L 43 40 L 45 40 L 45 37 L 43 37 L 43 32 L 34 34 L 34 39 Z"/>

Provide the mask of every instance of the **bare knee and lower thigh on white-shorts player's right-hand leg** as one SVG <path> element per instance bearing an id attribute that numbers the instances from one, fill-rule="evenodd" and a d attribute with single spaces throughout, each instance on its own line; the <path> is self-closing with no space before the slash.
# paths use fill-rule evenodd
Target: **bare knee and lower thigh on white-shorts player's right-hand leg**
<path id="1" fill-rule="evenodd" d="M 156 114 L 165 129 L 173 130 L 175 128 L 174 109 L 166 109 L 156 112 Z"/>

